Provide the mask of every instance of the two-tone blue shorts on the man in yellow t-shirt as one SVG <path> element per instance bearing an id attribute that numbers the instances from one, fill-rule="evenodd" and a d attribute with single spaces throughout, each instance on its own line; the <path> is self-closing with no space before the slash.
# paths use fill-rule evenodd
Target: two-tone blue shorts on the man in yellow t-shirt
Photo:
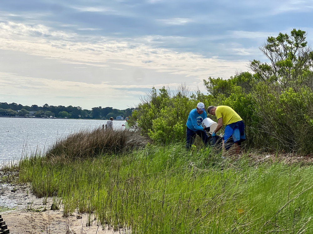
<path id="1" fill-rule="evenodd" d="M 227 124 L 225 127 L 224 135 L 225 149 L 229 149 L 233 143 L 239 144 L 246 140 L 246 134 L 244 133 L 244 121 L 238 121 L 232 124 Z"/>

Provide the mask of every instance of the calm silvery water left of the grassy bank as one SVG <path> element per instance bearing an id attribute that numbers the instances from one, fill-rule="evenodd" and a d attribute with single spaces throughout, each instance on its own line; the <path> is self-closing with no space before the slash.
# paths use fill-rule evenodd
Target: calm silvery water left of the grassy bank
<path id="1" fill-rule="evenodd" d="M 102 127 L 106 122 L 94 119 L 0 118 L 0 162 L 19 159 L 25 153 L 30 155 L 37 147 L 43 152 L 59 138 L 81 129 Z M 113 121 L 113 129 L 121 129 L 124 123 Z"/>

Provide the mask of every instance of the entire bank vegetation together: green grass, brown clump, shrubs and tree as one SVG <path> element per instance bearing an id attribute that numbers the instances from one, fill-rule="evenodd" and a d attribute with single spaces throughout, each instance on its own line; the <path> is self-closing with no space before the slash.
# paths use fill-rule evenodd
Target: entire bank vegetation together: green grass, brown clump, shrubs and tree
<path id="1" fill-rule="evenodd" d="M 53 209 L 62 203 L 64 217 L 86 212 L 87 225 L 126 233 L 311 233 L 313 167 L 252 156 L 312 153 L 313 53 L 300 30 L 269 37 L 261 50 L 269 64 L 205 80 L 208 95 L 153 88 L 129 120 L 138 131 L 82 131 L 23 158 L 12 167 L 19 182 L 43 201 L 54 197 Z M 244 119 L 242 156 L 222 158 L 201 141 L 186 151 L 187 116 L 199 101 Z"/>

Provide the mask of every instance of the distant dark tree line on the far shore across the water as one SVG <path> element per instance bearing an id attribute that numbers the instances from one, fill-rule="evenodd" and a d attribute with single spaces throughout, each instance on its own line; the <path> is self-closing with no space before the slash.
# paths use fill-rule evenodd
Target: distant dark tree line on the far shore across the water
<path id="1" fill-rule="evenodd" d="M 31 105 L 23 106 L 17 103 L 0 102 L 0 115 L 10 116 L 29 116 L 31 111 L 36 117 L 57 117 L 57 118 L 73 118 L 73 119 L 109 119 L 121 115 L 122 117 L 131 116 L 135 108 L 127 108 L 126 110 L 113 109 L 112 107 L 102 108 L 94 107 L 91 110 L 82 109 L 80 106 L 43 106 Z"/>

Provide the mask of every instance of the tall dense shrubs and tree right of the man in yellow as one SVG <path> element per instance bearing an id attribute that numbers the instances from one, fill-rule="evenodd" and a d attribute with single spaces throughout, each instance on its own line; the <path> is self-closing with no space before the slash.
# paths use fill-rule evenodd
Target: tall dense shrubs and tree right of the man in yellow
<path id="1" fill-rule="evenodd" d="M 313 60 L 305 36 L 293 29 L 290 36 L 268 37 L 260 49 L 269 63 L 251 61 L 254 75 L 204 80 L 213 105 L 228 105 L 242 117 L 249 147 L 313 152 Z"/>

